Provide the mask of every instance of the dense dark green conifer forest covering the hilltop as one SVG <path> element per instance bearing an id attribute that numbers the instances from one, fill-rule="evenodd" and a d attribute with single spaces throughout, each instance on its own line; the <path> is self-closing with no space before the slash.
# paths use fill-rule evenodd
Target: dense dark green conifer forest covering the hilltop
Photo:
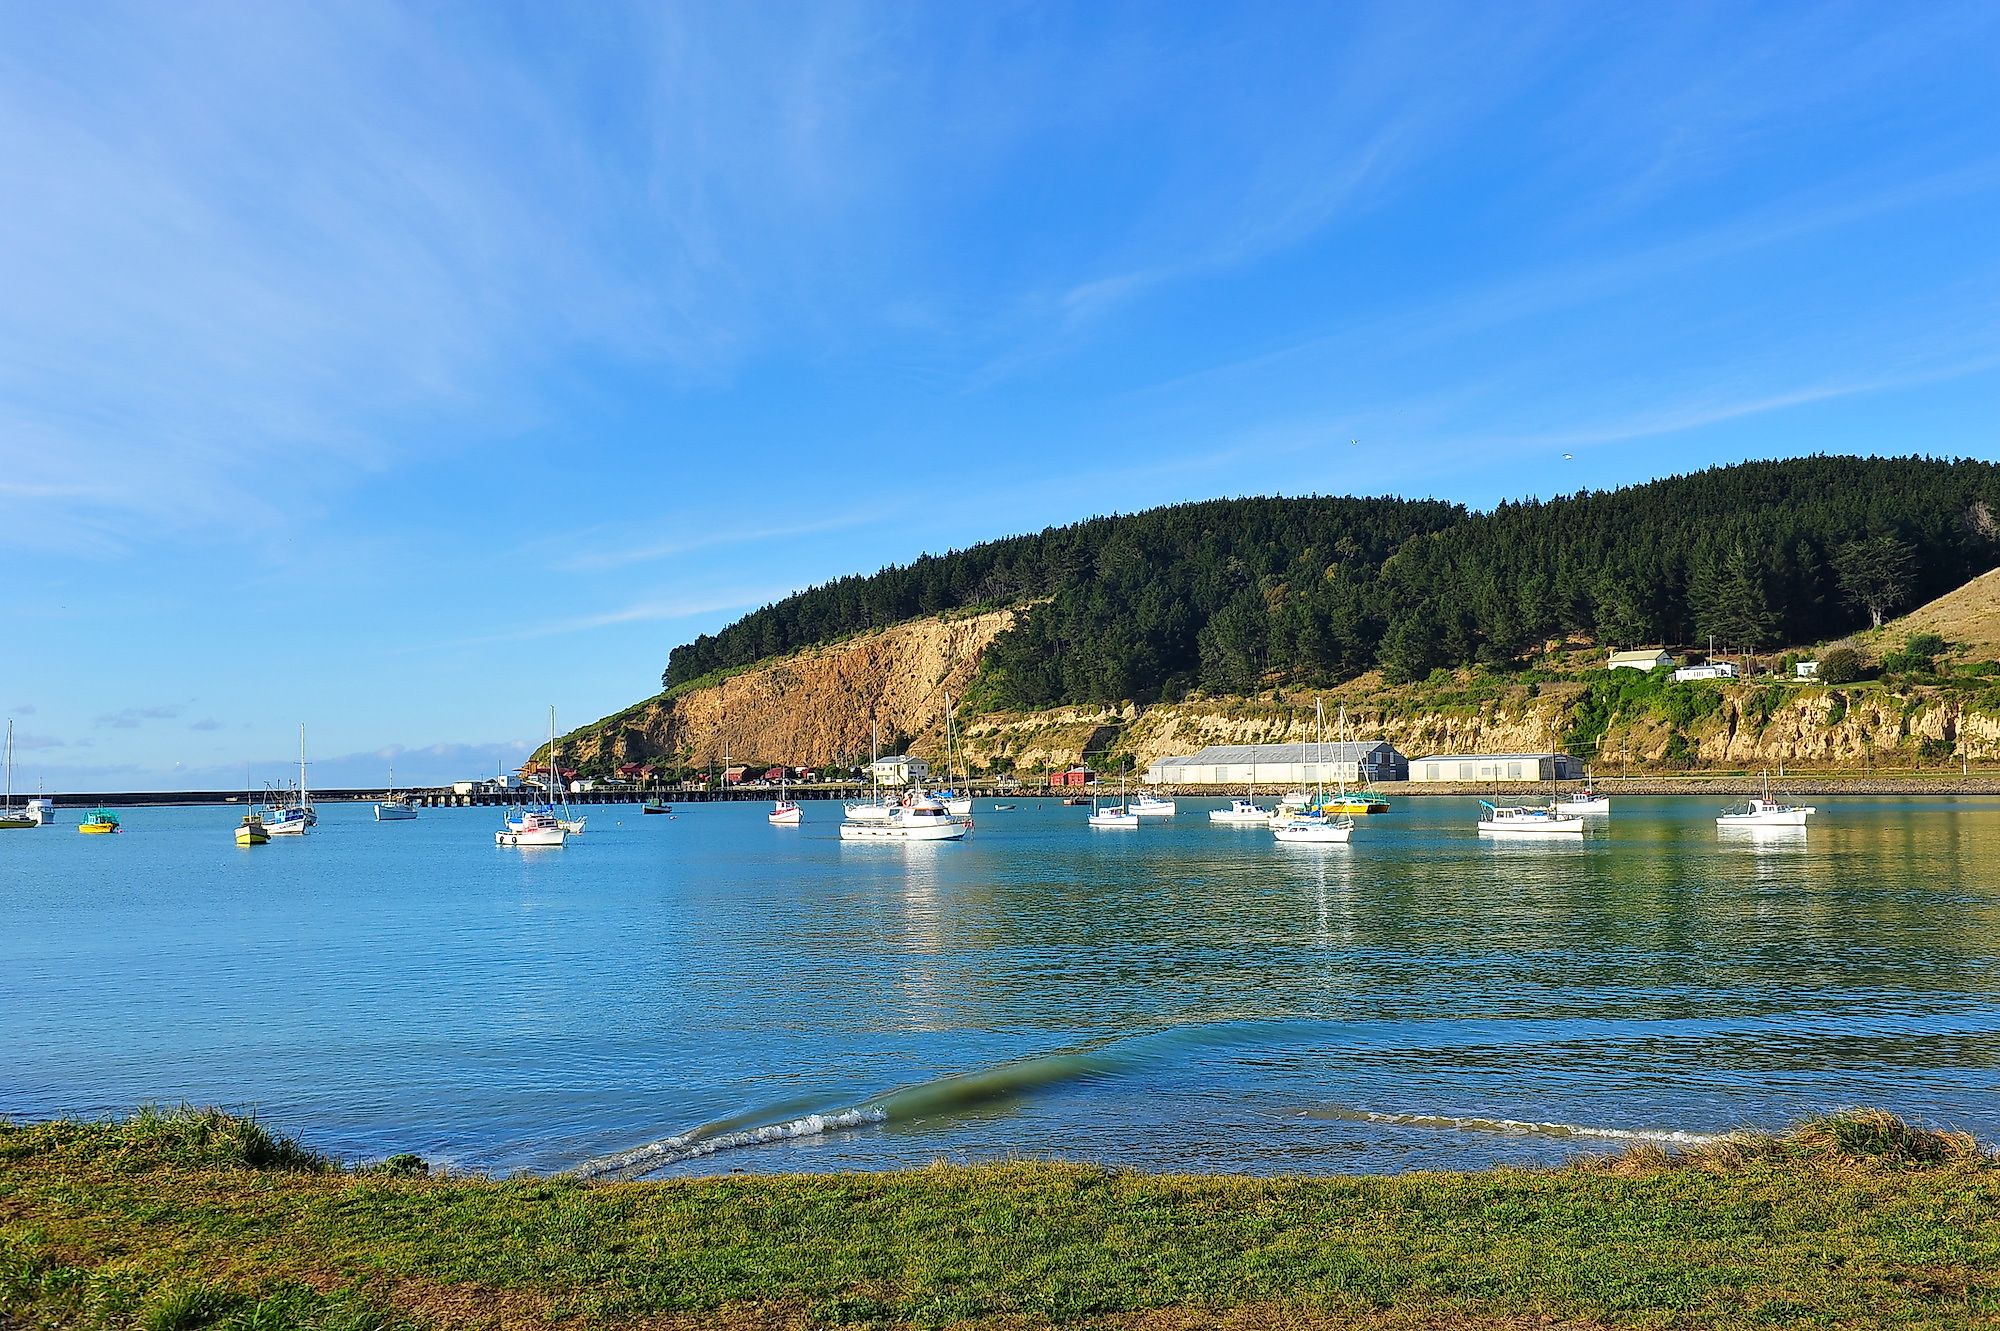
<path id="1" fill-rule="evenodd" d="M 1820 642 L 2000 564 L 2000 466 L 1798 458 L 1472 514 L 1436 500 L 1208 500 L 840 578 L 676 648 L 664 685 L 868 628 L 1024 606 L 978 705 L 1506 666 L 1544 640 Z"/>

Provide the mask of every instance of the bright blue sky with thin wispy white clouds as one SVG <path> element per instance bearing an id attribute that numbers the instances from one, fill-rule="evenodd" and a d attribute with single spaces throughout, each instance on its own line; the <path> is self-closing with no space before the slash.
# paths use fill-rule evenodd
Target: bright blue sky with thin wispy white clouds
<path id="1" fill-rule="evenodd" d="M 16 783 L 490 771 L 1106 510 L 2000 458 L 1996 64 L 1990 4 L 10 6 Z"/>

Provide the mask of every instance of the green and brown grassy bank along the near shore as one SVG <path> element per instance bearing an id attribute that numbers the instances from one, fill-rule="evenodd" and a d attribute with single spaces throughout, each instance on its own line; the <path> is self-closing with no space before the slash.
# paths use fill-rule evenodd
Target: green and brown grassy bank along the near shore
<path id="1" fill-rule="evenodd" d="M 2000 1325 L 2000 1163 L 1848 1113 L 1402 1177 L 340 1169 L 216 1111 L 0 1125 L 0 1327 Z"/>

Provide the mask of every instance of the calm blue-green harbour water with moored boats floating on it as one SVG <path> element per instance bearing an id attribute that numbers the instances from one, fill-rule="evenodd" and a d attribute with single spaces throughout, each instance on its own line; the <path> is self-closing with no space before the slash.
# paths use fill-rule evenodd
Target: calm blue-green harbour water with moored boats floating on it
<path id="1" fill-rule="evenodd" d="M 1494 845 L 1402 799 L 1346 847 L 1216 803 L 908 847 L 594 807 L 560 851 L 492 809 L 250 851 L 232 809 L 66 809 L 0 833 L 0 1113 L 222 1103 L 492 1171 L 1476 1167 L 1854 1103 L 2000 1139 L 2000 801 Z"/>

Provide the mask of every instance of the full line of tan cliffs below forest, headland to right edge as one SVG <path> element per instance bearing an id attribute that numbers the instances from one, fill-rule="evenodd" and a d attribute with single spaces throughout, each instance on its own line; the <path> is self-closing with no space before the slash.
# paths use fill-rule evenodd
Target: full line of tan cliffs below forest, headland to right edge
<path id="1" fill-rule="evenodd" d="M 986 646 L 1012 612 L 936 618 L 758 666 L 672 701 L 652 701 L 586 727 L 564 753 L 588 767 L 622 761 L 710 765 L 724 755 L 766 763 L 852 763 L 868 757 L 870 719 L 882 747 L 942 757 L 944 699 L 960 695 Z M 1598 745 L 1604 767 L 1862 767 L 1910 765 L 1924 739 L 1932 761 L 1960 747 L 1972 761 L 2000 759 L 2000 715 L 1968 705 L 1962 691 L 1892 693 L 1880 687 L 1716 683 L 1716 705 L 1680 725 L 1658 717 L 1616 719 Z M 1368 679 L 1326 693 L 1348 707 L 1356 739 L 1388 739 L 1402 753 L 1506 753 L 1562 749 L 1576 719 L 1578 683 L 1500 687 L 1478 703 L 1386 689 Z M 1042 771 L 1078 761 L 1106 765 L 1130 755 L 1144 769 L 1210 743 L 1300 743 L 1312 739 L 1312 693 L 1282 699 L 1226 697 L 1140 707 L 1054 707 L 986 713 L 962 723 L 974 771 Z M 1332 737 L 1332 735 L 1328 735 Z"/>

